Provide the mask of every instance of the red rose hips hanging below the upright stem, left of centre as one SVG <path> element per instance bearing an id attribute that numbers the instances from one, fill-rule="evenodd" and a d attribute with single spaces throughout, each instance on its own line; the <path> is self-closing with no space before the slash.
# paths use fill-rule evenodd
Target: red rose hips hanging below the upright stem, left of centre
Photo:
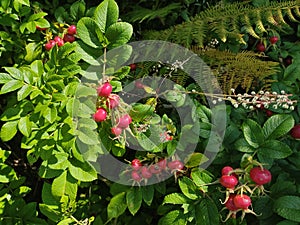
<path id="1" fill-rule="evenodd" d="M 97 88 L 97 111 L 93 115 L 96 122 L 105 121 L 107 119 L 107 110 L 116 109 L 120 105 L 120 97 L 117 94 L 113 94 L 112 89 L 112 85 L 109 82 L 105 82 Z M 123 114 L 117 117 L 114 122 L 116 125 L 111 128 L 111 132 L 115 136 L 119 136 L 131 124 L 132 119 L 129 114 Z"/>

